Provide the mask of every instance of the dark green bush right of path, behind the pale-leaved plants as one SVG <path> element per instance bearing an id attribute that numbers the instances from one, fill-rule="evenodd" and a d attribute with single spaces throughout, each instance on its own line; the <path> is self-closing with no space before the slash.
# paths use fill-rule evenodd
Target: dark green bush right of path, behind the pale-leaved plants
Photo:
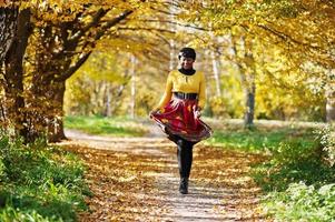
<path id="1" fill-rule="evenodd" d="M 322 160 L 316 140 L 286 140 L 272 153 L 268 162 L 254 169 L 255 180 L 264 191 L 285 191 L 299 181 L 316 186 L 335 182 L 335 171 Z"/>

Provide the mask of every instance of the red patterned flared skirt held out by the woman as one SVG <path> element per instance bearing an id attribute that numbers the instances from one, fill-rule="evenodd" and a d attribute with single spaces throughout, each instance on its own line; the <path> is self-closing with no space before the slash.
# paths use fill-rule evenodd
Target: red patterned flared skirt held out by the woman
<path id="1" fill-rule="evenodd" d="M 168 135 L 178 135 L 187 141 L 199 142 L 213 133 L 209 125 L 195 115 L 197 100 L 173 98 L 162 112 L 151 113 L 161 130 Z"/>

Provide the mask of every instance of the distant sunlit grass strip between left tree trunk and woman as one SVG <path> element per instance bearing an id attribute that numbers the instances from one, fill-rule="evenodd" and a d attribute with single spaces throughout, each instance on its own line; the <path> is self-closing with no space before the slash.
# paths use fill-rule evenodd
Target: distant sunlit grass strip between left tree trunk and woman
<path id="1" fill-rule="evenodd" d="M 146 128 L 129 118 L 66 117 L 65 127 L 111 137 L 141 137 L 147 133 Z"/>

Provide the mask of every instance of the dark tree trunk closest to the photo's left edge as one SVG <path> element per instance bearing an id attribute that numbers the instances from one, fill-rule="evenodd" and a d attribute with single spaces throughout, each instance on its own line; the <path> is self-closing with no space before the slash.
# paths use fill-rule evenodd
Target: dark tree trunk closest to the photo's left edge
<path id="1" fill-rule="evenodd" d="M 16 133 L 30 141 L 29 123 L 24 112 L 23 98 L 23 56 L 31 34 L 30 10 L 23 9 L 18 16 L 18 27 L 14 39 L 6 56 L 4 91 L 8 100 L 9 119 L 12 122 Z"/>

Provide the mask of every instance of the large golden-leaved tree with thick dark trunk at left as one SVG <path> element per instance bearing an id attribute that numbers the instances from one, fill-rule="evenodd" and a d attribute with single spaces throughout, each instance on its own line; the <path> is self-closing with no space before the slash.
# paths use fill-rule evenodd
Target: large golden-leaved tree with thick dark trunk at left
<path id="1" fill-rule="evenodd" d="M 27 39 L 29 44 L 21 41 L 12 46 L 12 50 L 20 49 L 27 59 L 18 59 L 20 57 L 12 52 L 4 70 L 4 87 L 13 89 L 4 99 L 12 97 L 13 101 L 22 101 L 19 109 L 12 105 L 16 102 L 6 108 L 17 133 L 33 140 L 48 131 L 51 141 L 62 139 L 66 80 L 89 58 L 99 40 L 118 39 L 120 23 L 125 27 L 131 14 L 161 8 L 157 6 L 160 1 L 21 2 L 19 17 L 24 16 L 24 20 L 18 20 L 18 27 L 24 32 L 20 38 Z M 16 84 L 8 84 L 13 80 L 21 84 L 20 93 L 14 91 Z"/>

